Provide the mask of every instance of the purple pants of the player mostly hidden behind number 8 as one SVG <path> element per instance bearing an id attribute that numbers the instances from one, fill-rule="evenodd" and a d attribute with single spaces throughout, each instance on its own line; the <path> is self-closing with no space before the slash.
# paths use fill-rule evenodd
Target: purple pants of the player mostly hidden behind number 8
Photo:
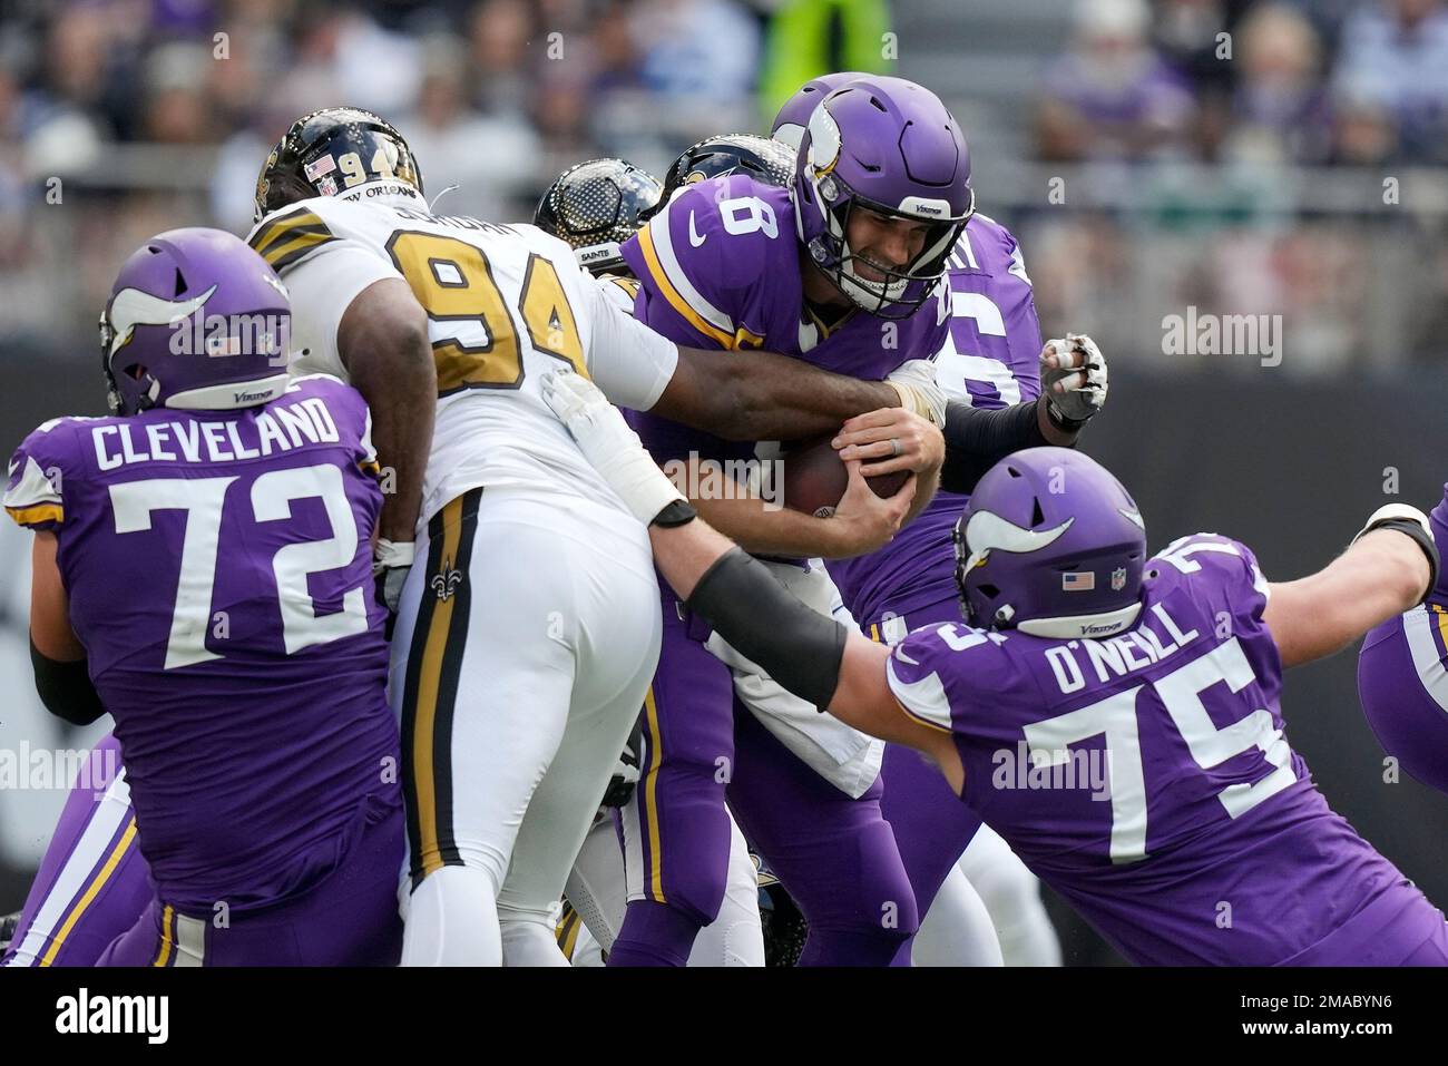
<path id="1" fill-rule="evenodd" d="M 950 595 L 918 607 L 908 616 L 895 617 L 902 617 L 904 623 L 892 624 L 904 624 L 905 631 L 960 621 L 960 600 Z M 866 626 L 864 631 L 876 640 L 883 639 L 879 620 Z M 880 779 L 885 782 L 880 810 L 895 830 L 895 844 L 915 891 L 915 910 L 924 917 L 950 870 L 960 862 L 970 839 L 980 828 L 980 815 L 960 802 L 960 798 L 950 791 L 944 775 L 914 747 L 886 744 Z M 891 965 L 909 966 L 914 943 L 912 933 L 901 944 Z"/>

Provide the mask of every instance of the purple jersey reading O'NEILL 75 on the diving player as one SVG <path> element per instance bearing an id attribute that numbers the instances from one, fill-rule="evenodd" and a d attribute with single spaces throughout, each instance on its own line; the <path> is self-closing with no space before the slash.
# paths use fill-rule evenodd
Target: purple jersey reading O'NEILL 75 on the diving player
<path id="1" fill-rule="evenodd" d="M 1441 936 L 1283 737 L 1253 553 L 1183 537 L 1142 588 L 1115 637 L 946 624 L 895 647 L 891 688 L 953 731 L 963 800 L 1138 963 L 1370 962 L 1406 923 Z"/>

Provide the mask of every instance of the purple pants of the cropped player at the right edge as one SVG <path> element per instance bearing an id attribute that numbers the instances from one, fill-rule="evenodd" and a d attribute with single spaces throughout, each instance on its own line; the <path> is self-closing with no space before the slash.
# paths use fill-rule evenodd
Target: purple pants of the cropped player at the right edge
<path id="1" fill-rule="evenodd" d="M 1423 604 L 1370 631 L 1358 697 L 1383 750 L 1448 792 L 1448 610 Z"/>

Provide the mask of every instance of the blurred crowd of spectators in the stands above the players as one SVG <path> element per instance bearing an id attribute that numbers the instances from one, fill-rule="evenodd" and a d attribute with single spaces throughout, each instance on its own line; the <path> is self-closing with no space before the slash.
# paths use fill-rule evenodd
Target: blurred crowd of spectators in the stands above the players
<path id="1" fill-rule="evenodd" d="M 791 85 L 824 70 L 912 77 L 925 56 L 948 59 L 938 54 L 951 38 L 933 39 L 933 20 L 969 30 L 983 19 L 976 46 L 988 51 L 983 13 L 993 13 L 1041 32 L 1015 64 L 1030 90 L 990 112 L 1015 136 L 982 130 L 1011 158 L 983 159 L 973 140 L 977 172 L 1009 162 L 1032 177 L 1021 188 L 977 182 L 977 194 L 1021 232 L 1048 329 L 1070 319 L 1132 358 L 1160 346 L 1163 314 L 1193 303 L 1286 313 L 1312 353 L 1300 369 L 1448 356 L 1432 351 L 1448 343 L 1434 310 L 1448 304 L 1438 251 L 1448 201 L 1394 214 L 1381 180 L 1361 177 L 1410 184 L 1448 164 L 1445 0 L 12 0 L 4 10 L 0 342 L 12 346 L 84 336 L 116 264 L 151 232 L 245 232 L 266 151 L 319 106 L 391 117 L 429 196 L 456 187 L 449 211 L 518 219 L 572 162 L 617 154 L 662 171 L 699 136 L 757 129 Z M 959 114 L 982 113 L 972 103 L 989 94 L 982 68 L 966 58 L 930 70 L 941 77 L 917 77 Z M 1054 174 L 1087 175 L 1090 196 L 1053 200 L 1035 175 Z M 1378 290 L 1406 310 L 1370 307 Z"/>

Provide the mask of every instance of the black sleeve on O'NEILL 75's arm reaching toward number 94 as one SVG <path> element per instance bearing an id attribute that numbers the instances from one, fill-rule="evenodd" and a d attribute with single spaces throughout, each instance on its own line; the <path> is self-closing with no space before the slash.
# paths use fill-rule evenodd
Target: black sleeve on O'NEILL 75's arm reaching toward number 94
<path id="1" fill-rule="evenodd" d="M 801 700 L 821 711 L 830 705 L 850 631 L 799 603 L 744 549 L 705 571 L 688 608 Z"/>

